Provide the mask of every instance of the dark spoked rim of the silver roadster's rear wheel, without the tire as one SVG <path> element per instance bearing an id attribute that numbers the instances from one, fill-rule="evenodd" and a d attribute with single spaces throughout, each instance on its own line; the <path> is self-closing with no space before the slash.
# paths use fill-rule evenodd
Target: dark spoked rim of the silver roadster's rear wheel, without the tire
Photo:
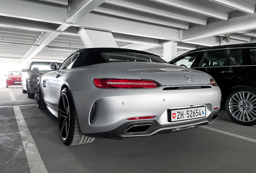
<path id="1" fill-rule="evenodd" d="M 70 126 L 70 111 L 68 105 L 68 98 L 65 93 L 60 96 L 59 108 L 58 108 L 58 124 L 59 132 L 62 141 L 66 141 L 68 138 L 69 126 Z"/>

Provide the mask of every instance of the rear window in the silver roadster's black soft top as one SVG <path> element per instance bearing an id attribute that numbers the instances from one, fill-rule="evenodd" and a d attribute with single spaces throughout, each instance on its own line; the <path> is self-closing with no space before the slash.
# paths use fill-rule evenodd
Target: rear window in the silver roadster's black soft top
<path id="1" fill-rule="evenodd" d="M 101 53 L 107 62 L 161 62 L 167 63 L 161 58 L 151 54 L 141 54 L 134 52 L 103 52 Z"/>

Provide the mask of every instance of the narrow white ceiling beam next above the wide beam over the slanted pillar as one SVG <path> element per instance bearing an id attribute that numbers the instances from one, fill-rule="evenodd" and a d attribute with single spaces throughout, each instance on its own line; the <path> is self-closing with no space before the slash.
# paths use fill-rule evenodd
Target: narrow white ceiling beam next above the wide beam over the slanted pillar
<path id="1" fill-rule="evenodd" d="M 189 24 L 188 22 L 183 22 L 180 20 L 175 20 L 163 16 L 158 16 L 155 14 L 149 14 L 145 12 L 140 12 L 138 10 L 132 10 L 129 8 L 124 8 L 121 6 L 115 6 L 111 4 L 101 4 L 97 8 L 95 8 L 93 11 L 95 12 L 101 12 L 104 14 L 124 17 L 124 18 L 130 18 L 133 20 L 139 20 L 143 22 L 149 22 L 153 24 L 160 24 L 165 26 L 170 26 L 174 28 L 182 28 L 182 29 L 188 29 Z"/>

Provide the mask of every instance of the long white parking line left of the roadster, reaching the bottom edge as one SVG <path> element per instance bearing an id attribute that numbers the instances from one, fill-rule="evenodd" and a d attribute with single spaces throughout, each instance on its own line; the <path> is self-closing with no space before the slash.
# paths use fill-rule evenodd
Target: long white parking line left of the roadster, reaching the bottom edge
<path id="1" fill-rule="evenodd" d="M 27 128 L 25 119 L 21 113 L 19 106 L 14 106 L 14 113 L 21 134 L 21 140 L 27 155 L 29 168 L 31 173 L 48 173 L 45 165 L 43 164 L 42 158 L 37 150 L 35 142 Z"/>

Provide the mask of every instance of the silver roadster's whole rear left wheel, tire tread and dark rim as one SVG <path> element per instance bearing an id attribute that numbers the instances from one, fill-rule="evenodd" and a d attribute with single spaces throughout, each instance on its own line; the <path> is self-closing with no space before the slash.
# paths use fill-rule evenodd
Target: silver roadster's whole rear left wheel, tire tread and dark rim
<path id="1" fill-rule="evenodd" d="M 68 88 L 64 88 L 60 94 L 58 104 L 58 127 L 60 138 L 67 146 L 91 143 L 95 139 L 81 133 L 76 110 L 72 104 Z"/>

